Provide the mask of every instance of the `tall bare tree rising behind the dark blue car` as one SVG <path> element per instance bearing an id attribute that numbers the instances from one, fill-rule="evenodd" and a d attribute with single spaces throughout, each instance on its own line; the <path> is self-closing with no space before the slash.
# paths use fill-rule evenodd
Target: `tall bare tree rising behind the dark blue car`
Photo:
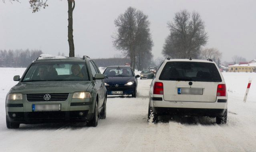
<path id="1" fill-rule="evenodd" d="M 129 56 L 131 67 L 135 70 L 136 63 L 137 66 L 141 65 L 136 62 L 136 58 L 142 58 L 145 52 L 151 54 L 153 46 L 149 33 L 148 16 L 135 8 L 129 7 L 124 14 L 118 16 L 114 23 L 117 32 L 112 36 L 113 45 L 118 50 L 122 50 L 125 56 Z"/>

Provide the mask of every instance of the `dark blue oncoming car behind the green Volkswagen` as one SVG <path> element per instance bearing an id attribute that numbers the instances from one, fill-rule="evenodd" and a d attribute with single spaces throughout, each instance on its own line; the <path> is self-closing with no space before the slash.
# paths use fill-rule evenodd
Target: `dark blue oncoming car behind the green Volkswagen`
<path id="1" fill-rule="evenodd" d="M 105 86 L 108 95 L 132 95 L 137 96 L 137 78 L 129 66 L 108 66 L 103 72 Z"/>

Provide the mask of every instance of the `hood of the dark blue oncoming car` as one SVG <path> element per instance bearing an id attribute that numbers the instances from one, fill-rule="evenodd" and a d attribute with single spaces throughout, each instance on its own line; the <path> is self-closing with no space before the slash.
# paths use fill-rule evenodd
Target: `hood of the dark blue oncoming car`
<path id="1" fill-rule="evenodd" d="M 127 82 L 135 81 L 134 76 L 107 76 L 104 82 L 107 84 L 126 84 Z"/>

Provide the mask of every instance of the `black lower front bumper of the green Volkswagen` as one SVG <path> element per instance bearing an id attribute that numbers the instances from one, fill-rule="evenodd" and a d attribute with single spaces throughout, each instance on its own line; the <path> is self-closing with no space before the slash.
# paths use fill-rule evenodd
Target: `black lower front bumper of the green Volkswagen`
<path id="1" fill-rule="evenodd" d="M 93 113 L 90 114 L 88 111 L 89 110 L 56 112 L 8 112 L 6 119 L 8 119 L 9 122 L 16 122 L 20 124 L 39 124 L 70 121 L 84 122 L 93 118 Z M 83 112 L 83 115 L 79 115 L 81 112 Z"/>

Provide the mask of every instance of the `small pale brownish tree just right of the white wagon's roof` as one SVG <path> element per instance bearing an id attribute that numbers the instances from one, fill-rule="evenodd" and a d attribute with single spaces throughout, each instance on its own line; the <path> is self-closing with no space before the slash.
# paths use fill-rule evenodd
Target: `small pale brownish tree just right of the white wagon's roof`
<path id="1" fill-rule="evenodd" d="M 217 48 L 205 48 L 201 51 L 201 55 L 203 59 L 212 59 L 214 62 L 221 59 L 222 52 L 220 52 Z"/>

